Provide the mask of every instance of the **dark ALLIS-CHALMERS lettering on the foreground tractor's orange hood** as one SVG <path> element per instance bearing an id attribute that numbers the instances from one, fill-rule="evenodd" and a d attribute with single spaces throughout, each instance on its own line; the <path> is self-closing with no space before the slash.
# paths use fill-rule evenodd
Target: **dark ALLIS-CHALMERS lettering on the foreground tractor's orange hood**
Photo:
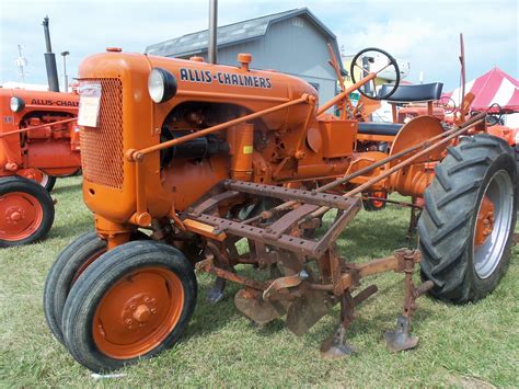
<path id="1" fill-rule="evenodd" d="M 222 85 L 249 87 L 249 88 L 272 88 L 270 79 L 267 77 L 230 75 L 226 72 L 212 73 L 210 70 L 197 70 L 181 68 L 181 81 L 212 83 Z"/>

